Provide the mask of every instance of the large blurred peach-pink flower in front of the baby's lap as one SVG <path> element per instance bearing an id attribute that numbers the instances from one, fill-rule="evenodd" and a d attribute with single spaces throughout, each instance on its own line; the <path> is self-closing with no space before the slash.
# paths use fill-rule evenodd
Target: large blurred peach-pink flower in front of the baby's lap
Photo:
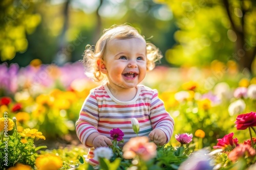
<path id="1" fill-rule="evenodd" d="M 154 142 L 149 142 L 148 137 L 134 137 L 124 144 L 123 158 L 133 159 L 138 155 L 141 159 L 147 161 L 156 156 L 156 149 L 156 144 Z"/>

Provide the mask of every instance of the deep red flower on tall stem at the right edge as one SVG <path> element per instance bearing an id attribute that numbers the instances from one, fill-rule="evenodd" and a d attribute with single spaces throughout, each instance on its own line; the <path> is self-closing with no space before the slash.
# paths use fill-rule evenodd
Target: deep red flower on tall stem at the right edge
<path id="1" fill-rule="evenodd" d="M 237 127 L 237 130 L 244 130 L 248 127 L 256 126 L 256 112 L 240 114 L 237 116 L 237 121 L 234 123 L 237 124 L 234 126 Z"/>

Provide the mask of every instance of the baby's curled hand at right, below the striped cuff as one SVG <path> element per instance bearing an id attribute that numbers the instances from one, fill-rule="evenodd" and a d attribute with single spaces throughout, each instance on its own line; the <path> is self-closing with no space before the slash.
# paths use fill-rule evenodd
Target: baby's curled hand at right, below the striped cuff
<path id="1" fill-rule="evenodd" d="M 160 129 L 154 129 L 148 137 L 151 141 L 154 141 L 155 144 L 164 145 L 166 143 L 167 137 L 165 133 Z"/>

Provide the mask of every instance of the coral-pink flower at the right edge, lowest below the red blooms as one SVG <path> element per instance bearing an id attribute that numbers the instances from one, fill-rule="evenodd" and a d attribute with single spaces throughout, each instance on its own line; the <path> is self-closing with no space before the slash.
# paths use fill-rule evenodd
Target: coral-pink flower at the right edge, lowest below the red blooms
<path id="1" fill-rule="evenodd" d="M 234 148 L 230 153 L 228 153 L 228 158 L 232 162 L 236 162 L 241 157 L 252 157 L 255 154 L 255 150 L 248 144 L 240 144 L 237 148 Z"/>

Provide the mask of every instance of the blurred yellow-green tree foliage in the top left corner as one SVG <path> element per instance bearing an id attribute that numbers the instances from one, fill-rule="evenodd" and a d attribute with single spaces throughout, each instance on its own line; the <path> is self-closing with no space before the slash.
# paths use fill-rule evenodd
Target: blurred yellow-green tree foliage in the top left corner
<path id="1" fill-rule="evenodd" d="M 28 0 L 3 0 L 0 11 L 0 59 L 5 61 L 27 50 L 27 34 L 34 32 L 41 17 L 34 11 L 34 1 Z"/>

